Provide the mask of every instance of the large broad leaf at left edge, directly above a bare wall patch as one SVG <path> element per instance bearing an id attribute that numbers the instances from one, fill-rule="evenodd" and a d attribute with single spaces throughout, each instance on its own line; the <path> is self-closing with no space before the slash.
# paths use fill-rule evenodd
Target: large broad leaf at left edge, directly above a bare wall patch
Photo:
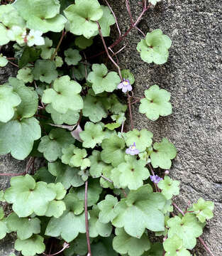
<path id="1" fill-rule="evenodd" d="M 0 154 L 11 153 L 15 159 L 23 160 L 33 149 L 34 141 L 40 137 L 39 122 L 33 117 L 6 124 L 0 122 Z"/>

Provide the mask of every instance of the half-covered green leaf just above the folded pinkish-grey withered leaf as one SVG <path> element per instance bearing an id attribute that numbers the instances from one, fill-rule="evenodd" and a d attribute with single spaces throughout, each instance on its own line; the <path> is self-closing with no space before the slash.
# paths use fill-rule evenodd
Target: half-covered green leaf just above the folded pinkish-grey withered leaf
<path id="1" fill-rule="evenodd" d="M 45 107 L 46 112 L 51 114 L 52 120 L 55 124 L 77 124 L 79 120 L 79 112 L 73 110 L 67 110 L 65 114 L 57 112 L 52 107 L 52 104 L 49 104 Z"/>

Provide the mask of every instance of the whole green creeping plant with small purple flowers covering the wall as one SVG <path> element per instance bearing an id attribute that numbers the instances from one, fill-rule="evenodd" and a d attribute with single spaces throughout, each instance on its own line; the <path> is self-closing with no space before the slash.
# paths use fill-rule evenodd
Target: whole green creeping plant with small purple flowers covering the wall
<path id="1" fill-rule="evenodd" d="M 15 233 L 21 255 L 188 256 L 198 239 L 213 255 L 201 238 L 213 202 L 180 209 L 179 181 L 169 175 L 175 146 L 133 126 L 136 103 L 153 122 L 172 114 L 170 92 L 150 85 L 134 95 L 136 78 L 118 65 L 124 46 L 115 47 L 132 29 L 144 65 L 167 62 L 170 38 L 138 28 L 159 1 L 140 1 L 134 18 L 126 0 L 125 33 L 106 0 L 1 1 L 0 45 L 12 42 L 14 55 L 1 54 L 0 66 L 18 73 L 0 85 L 0 154 L 28 164 L 0 192 L 0 239 Z M 109 46 L 114 24 L 119 36 Z M 36 157 L 45 166 L 35 169 Z"/>

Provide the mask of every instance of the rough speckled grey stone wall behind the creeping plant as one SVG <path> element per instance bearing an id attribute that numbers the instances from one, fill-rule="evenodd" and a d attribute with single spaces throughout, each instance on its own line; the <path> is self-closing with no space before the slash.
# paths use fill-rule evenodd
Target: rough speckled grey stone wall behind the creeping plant
<path id="1" fill-rule="evenodd" d="M 109 0 L 124 33 L 130 24 L 124 0 Z M 131 0 L 131 11 L 138 17 L 141 6 Z M 134 93 L 143 96 L 150 85 L 160 85 L 172 94 L 173 114 L 156 122 L 138 113 L 133 107 L 133 119 L 138 129 L 147 128 L 156 142 L 167 137 L 177 147 L 170 176 L 181 181 L 177 204 L 187 206 L 199 197 L 214 201 L 215 217 L 209 221 L 202 237 L 215 256 L 222 255 L 222 7 L 219 0 L 163 0 L 143 17 L 139 28 L 146 33 L 161 28 L 172 39 L 170 58 L 165 65 L 148 65 L 135 48 L 141 34 L 133 30 L 126 41 L 116 47 L 126 48 L 118 54 L 121 68 L 135 75 Z M 118 37 L 114 29 L 113 39 Z M 11 73 L 0 70 L 1 82 Z M 14 75 L 14 73 L 13 73 Z M 0 158 L 0 172 L 22 172 L 26 164 L 11 156 Z M 9 185 L 0 177 L 1 188 Z M 0 241 L 0 256 L 11 251 L 11 242 Z M 201 245 L 196 255 L 208 255 Z M 99 255 L 96 255 L 99 256 Z"/>

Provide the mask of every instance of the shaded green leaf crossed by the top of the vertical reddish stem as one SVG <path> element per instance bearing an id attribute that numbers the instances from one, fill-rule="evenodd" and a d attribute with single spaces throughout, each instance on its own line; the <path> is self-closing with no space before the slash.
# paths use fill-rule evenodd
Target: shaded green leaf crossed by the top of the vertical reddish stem
<path id="1" fill-rule="evenodd" d="M 87 206 L 93 206 L 98 200 L 99 195 L 101 194 L 102 188 L 99 186 L 99 181 L 97 179 L 91 179 L 88 180 L 88 193 L 87 193 Z M 75 188 L 74 192 L 77 193 L 77 196 L 80 200 L 84 201 L 85 196 L 85 188 L 84 186 L 80 188 Z"/>

